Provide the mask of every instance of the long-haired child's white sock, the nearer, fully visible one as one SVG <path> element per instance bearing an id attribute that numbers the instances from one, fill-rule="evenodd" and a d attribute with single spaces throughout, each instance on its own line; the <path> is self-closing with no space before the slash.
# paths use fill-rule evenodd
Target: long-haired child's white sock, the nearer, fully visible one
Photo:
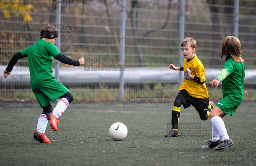
<path id="1" fill-rule="evenodd" d="M 229 139 L 227 135 L 227 129 L 225 127 L 224 121 L 220 116 L 215 116 L 211 119 L 212 125 L 216 128 L 220 134 L 221 139 Z"/>

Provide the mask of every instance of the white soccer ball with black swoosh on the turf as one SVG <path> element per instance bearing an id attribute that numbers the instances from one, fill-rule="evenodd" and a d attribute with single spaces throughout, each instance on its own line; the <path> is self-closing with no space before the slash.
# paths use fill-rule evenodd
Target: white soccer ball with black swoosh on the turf
<path id="1" fill-rule="evenodd" d="M 110 137 L 115 141 L 121 141 L 126 138 L 128 130 L 126 125 L 121 122 L 116 122 L 109 127 Z"/>

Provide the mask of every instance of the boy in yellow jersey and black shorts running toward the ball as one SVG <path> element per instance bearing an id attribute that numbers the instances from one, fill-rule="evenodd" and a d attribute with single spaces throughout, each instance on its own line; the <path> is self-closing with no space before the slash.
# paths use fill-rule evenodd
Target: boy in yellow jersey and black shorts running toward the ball
<path id="1" fill-rule="evenodd" d="M 180 135 L 178 123 L 181 105 L 184 106 L 184 109 L 191 105 L 194 106 L 201 120 L 207 120 L 214 107 L 214 103 L 209 101 L 205 84 L 205 68 L 195 54 L 196 41 L 192 38 L 185 38 L 181 43 L 181 50 L 184 56 L 184 66 L 175 67 L 173 64 L 169 64 L 170 69 L 184 71 L 184 81 L 173 104 L 172 130 L 165 137 Z"/>

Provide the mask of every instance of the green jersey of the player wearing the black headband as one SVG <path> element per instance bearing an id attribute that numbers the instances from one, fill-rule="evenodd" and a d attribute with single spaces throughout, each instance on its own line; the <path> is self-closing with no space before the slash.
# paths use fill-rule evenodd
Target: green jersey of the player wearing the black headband
<path id="1" fill-rule="evenodd" d="M 52 62 L 59 53 L 53 43 L 42 39 L 21 51 L 23 58 L 28 57 L 32 90 L 57 82 L 52 74 Z"/>

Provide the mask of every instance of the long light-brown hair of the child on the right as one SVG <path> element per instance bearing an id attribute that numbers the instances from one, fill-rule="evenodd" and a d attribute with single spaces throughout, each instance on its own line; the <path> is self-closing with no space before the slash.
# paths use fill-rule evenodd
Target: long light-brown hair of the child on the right
<path id="1" fill-rule="evenodd" d="M 220 51 L 218 53 L 220 55 L 220 60 L 224 59 L 225 57 L 226 61 L 233 58 L 237 63 L 244 62 L 242 59 L 240 40 L 234 36 L 226 36 L 223 39 Z"/>

